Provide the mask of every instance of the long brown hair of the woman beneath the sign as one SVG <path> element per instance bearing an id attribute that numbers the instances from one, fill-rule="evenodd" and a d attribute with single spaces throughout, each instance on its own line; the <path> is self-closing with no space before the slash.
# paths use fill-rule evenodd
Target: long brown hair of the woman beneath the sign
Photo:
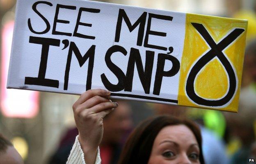
<path id="1" fill-rule="evenodd" d="M 204 164 L 202 155 L 202 139 L 199 127 L 189 120 L 182 120 L 171 116 L 157 116 L 143 121 L 128 137 L 123 147 L 119 164 L 147 164 L 155 137 L 165 126 L 185 125 L 195 135 L 199 144 L 199 161 Z"/>

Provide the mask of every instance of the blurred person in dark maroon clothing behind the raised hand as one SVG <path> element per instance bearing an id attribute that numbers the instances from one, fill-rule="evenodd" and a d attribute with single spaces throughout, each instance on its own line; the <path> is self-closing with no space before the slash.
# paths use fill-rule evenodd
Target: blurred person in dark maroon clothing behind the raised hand
<path id="1" fill-rule="evenodd" d="M 104 118 L 104 135 L 100 145 L 101 164 L 117 164 L 121 148 L 132 130 L 131 108 L 125 100 L 114 100 L 119 106 Z M 59 148 L 51 157 L 49 164 L 65 164 L 78 129 L 72 128 L 61 139 Z"/>

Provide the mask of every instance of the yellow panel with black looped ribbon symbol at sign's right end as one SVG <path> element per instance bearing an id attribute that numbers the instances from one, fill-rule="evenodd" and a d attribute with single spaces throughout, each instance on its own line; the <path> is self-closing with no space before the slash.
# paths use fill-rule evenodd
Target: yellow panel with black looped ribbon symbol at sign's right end
<path id="1" fill-rule="evenodd" d="M 247 21 L 189 14 L 178 105 L 238 112 Z"/>

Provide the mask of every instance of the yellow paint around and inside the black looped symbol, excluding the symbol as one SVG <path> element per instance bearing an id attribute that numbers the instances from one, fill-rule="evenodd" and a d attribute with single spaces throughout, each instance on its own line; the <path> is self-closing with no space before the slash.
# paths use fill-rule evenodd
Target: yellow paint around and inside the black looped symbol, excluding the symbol
<path id="1" fill-rule="evenodd" d="M 222 107 L 217 108 L 198 105 L 197 103 L 191 101 L 185 92 L 187 76 L 191 67 L 199 58 L 201 58 L 201 56 L 203 56 L 203 54 L 211 49 L 199 34 L 197 29 L 193 27 L 191 24 L 192 22 L 202 24 L 207 29 L 215 43 L 219 43 L 220 40 L 225 38 L 225 36 L 235 28 L 245 29 L 245 31 L 223 51 L 226 57 L 229 59 L 231 65 L 234 67 L 236 76 L 238 78 L 238 87 L 231 102 Z M 181 59 L 178 105 L 238 112 L 238 100 L 245 52 L 246 29 L 246 20 L 187 13 L 184 49 Z M 221 62 L 219 62 L 217 57 L 209 61 L 197 74 L 197 78 L 194 82 L 194 89 L 197 95 L 203 99 L 221 99 L 226 94 L 227 90 L 229 89 L 229 79 L 224 66 Z"/>

